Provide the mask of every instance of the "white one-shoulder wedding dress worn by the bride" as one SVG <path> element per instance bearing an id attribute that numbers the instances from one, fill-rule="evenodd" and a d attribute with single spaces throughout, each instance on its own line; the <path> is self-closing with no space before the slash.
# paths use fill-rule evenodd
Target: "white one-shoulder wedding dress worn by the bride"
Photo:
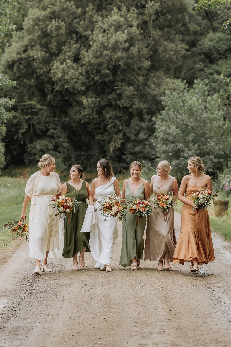
<path id="1" fill-rule="evenodd" d="M 97 202 L 102 200 L 102 196 L 108 196 L 111 193 L 115 193 L 114 181 L 115 177 L 112 177 L 110 182 L 103 186 L 96 188 L 96 208 Z M 95 269 L 103 269 L 104 265 L 110 265 L 112 263 L 112 252 L 115 244 L 115 240 L 118 237 L 117 222 L 118 217 L 107 217 L 104 222 L 104 215 L 101 215 L 100 211 L 94 211 L 94 206 L 89 205 L 85 220 L 80 232 L 90 231 L 90 250 L 92 256 L 96 260 Z"/>

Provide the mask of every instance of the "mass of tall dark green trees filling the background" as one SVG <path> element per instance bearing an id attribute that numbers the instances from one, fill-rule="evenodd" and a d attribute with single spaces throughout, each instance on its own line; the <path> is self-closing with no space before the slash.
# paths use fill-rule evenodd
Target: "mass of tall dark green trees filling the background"
<path id="1" fill-rule="evenodd" d="M 227 8 L 199 12 L 193 3 L 19 1 L 19 29 L 1 57 L 17 81 L 9 93 L 16 103 L 6 122 L 7 165 L 44 152 L 86 169 L 106 157 L 117 172 L 134 159 L 154 162 L 161 97 L 176 79 L 189 86 L 208 79 L 208 95 L 219 92 L 220 108 L 229 106 L 220 79 L 231 75 L 230 36 L 221 28 Z"/>

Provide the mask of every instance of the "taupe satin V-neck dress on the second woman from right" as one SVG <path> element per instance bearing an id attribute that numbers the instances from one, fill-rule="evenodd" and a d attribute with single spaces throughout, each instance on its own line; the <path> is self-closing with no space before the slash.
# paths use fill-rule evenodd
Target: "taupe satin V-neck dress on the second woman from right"
<path id="1" fill-rule="evenodd" d="M 171 192 L 174 177 L 169 176 L 166 184 L 160 188 L 158 176 L 154 176 L 153 193 Z M 176 248 L 176 236 L 174 231 L 174 210 L 169 209 L 165 213 L 166 218 L 161 211 L 158 212 L 158 206 L 150 203 L 153 212 L 148 217 L 147 230 L 144 246 L 144 260 L 161 261 L 168 258 L 172 261 L 172 257 Z"/>

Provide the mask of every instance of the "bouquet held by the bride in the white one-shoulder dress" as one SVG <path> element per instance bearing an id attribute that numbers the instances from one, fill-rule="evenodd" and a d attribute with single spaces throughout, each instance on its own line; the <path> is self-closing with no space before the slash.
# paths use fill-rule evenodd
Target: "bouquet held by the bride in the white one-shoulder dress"
<path id="1" fill-rule="evenodd" d="M 102 200 L 97 201 L 97 209 L 95 211 L 101 211 L 101 214 L 105 216 L 104 221 L 106 221 L 108 216 L 118 216 L 118 219 L 122 222 L 126 218 L 126 207 L 125 203 L 121 203 L 121 198 L 112 193 L 109 196 L 102 196 Z"/>

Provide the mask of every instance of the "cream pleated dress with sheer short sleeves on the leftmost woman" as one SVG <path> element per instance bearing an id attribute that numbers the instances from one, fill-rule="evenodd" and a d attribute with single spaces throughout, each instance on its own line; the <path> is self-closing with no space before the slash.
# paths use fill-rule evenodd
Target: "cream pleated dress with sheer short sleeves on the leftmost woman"
<path id="1" fill-rule="evenodd" d="M 53 209 L 51 198 L 61 191 L 59 175 L 51 172 L 43 176 L 36 172 L 27 181 L 25 193 L 31 199 L 29 213 L 29 256 L 43 260 L 48 257 L 58 258 L 63 252 L 63 233 L 61 219 L 57 209 Z"/>

